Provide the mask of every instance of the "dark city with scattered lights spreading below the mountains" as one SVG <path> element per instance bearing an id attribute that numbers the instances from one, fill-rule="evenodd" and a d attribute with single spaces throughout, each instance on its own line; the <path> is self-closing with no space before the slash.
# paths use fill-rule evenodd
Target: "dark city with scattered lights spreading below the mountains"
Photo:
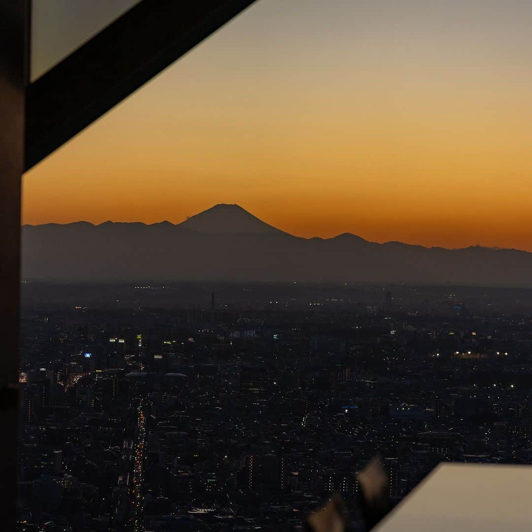
<path id="1" fill-rule="evenodd" d="M 532 289 L 22 283 L 21 530 L 302 530 L 380 456 L 530 463 Z"/>

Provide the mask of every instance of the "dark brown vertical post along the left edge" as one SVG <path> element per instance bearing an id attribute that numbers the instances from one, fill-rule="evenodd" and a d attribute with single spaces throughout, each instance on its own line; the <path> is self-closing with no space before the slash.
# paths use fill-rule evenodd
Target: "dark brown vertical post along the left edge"
<path id="1" fill-rule="evenodd" d="M 5 530 L 16 530 L 20 198 L 28 20 L 28 0 L 0 0 L 0 501 Z"/>

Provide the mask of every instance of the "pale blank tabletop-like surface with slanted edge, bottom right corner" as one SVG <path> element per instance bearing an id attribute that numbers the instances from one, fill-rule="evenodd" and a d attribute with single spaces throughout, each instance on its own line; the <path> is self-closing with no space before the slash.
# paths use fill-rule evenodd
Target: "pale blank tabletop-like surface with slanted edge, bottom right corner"
<path id="1" fill-rule="evenodd" d="M 532 532 L 532 465 L 440 464 L 375 532 Z"/>

